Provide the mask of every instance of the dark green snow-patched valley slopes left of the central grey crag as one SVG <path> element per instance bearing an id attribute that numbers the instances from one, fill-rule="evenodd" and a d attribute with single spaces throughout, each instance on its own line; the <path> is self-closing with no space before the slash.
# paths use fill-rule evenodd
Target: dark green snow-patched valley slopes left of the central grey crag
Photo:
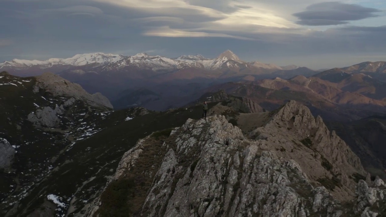
<path id="1" fill-rule="evenodd" d="M 36 78 L 1 76 L 20 85 L 20 91 L 10 92 L 14 95 L 8 92 L 15 85 L 0 86 L 5 94 L 1 98 L 6 99 L 0 104 L 4 117 L 0 149 L 7 149 L 7 154 L 0 153 L 0 162 L 10 167 L 0 172 L 2 215 L 82 215 L 87 201 L 93 200 L 122 154 L 138 139 L 201 116 L 201 107 L 162 113 L 144 108 L 110 112 L 105 106 L 87 104 L 82 97 L 54 97 L 41 88 L 34 92 Z M 18 81 L 25 82 L 24 88 Z M 8 158 L 13 161 L 3 163 Z"/>

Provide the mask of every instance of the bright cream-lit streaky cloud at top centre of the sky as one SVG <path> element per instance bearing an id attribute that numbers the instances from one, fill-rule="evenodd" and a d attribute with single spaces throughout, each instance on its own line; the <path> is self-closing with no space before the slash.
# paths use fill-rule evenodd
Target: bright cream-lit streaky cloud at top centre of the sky
<path id="1" fill-rule="evenodd" d="M 261 32 L 264 27 L 293 28 L 298 26 L 254 2 L 240 4 L 234 0 L 95 1 L 115 4 L 129 10 L 140 11 L 143 15 L 147 14 L 147 17 L 133 21 L 147 22 L 156 26 L 152 30 L 144 31 L 145 35 L 152 36 L 189 37 L 188 32 L 191 32 L 191 37 L 211 35 L 249 39 L 248 37 L 229 36 L 229 34 L 222 34 L 221 31 L 233 31 L 240 34 Z M 224 8 L 232 8 L 232 10 Z"/>

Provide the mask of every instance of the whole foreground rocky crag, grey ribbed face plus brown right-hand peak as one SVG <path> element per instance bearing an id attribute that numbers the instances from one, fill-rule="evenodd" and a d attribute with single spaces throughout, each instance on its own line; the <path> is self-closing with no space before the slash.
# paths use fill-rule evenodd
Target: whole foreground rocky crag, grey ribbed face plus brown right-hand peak
<path id="1" fill-rule="evenodd" d="M 154 132 L 85 216 L 383 215 L 383 181 L 356 184 L 359 159 L 308 108 L 291 101 L 251 134 L 221 115 Z"/>

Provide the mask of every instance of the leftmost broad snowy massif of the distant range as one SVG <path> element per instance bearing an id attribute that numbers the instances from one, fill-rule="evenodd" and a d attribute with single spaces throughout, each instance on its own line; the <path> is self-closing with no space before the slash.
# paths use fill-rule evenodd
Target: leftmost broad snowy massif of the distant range
<path id="1" fill-rule="evenodd" d="M 58 64 L 69 64 L 72 66 L 84 66 L 92 63 L 113 63 L 123 59 L 124 56 L 119 54 L 105 54 L 105 53 L 90 53 L 90 54 L 76 54 L 71 58 L 60 59 L 50 58 L 47 60 L 26 60 L 26 59 L 13 59 L 12 61 L 5 61 L 0 63 L 0 68 L 3 67 L 16 67 L 27 68 L 30 66 L 40 66 L 40 68 L 49 68 Z"/>

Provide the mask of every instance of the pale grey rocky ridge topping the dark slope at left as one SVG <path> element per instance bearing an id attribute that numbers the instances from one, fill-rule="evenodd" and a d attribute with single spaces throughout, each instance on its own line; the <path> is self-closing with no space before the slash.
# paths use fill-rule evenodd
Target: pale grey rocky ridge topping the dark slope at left
<path id="1" fill-rule="evenodd" d="M 39 88 L 52 93 L 54 96 L 73 97 L 81 99 L 94 107 L 106 107 L 112 109 L 110 101 L 101 93 L 90 94 L 86 92 L 79 84 L 71 83 L 70 81 L 61 78 L 59 75 L 53 73 L 43 73 L 36 77 L 35 91 Z"/>

